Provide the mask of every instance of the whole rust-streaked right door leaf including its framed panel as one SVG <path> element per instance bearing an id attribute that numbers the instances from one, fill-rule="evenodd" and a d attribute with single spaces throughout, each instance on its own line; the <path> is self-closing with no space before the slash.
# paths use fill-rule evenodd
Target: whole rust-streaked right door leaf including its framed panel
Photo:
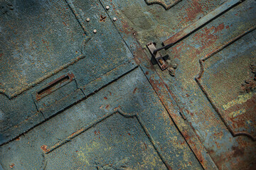
<path id="1" fill-rule="evenodd" d="M 103 2 L 104 5 L 109 4 L 108 1 L 103 0 Z M 108 10 L 108 13 L 110 17 L 117 17 L 117 21 L 114 22 L 115 26 L 134 52 L 137 61 L 166 108 L 171 109 L 169 114 L 174 118 L 193 152 L 201 160 L 202 166 L 205 169 L 210 169 L 212 164 L 208 164 L 210 159 L 207 156 L 210 154 L 210 158 L 213 159 L 218 169 L 253 169 L 255 166 L 255 154 L 253 154 L 255 152 L 253 137 L 255 132 L 255 97 L 252 89 L 255 86 L 253 80 L 255 74 L 250 67 L 252 67 L 251 62 L 253 63 L 255 60 L 253 52 L 255 36 L 251 33 L 256 23 L 255 1 L 236 1 L 238 4 L 228 11 L 194 30 L 194 33 L 192 32 L 183 40 L 178 40 L 179 42 L 169 50 L 161 51 L 162 54 L 169 55 L 169 60 L 166 62 L 169 62 L 170 66 L 178 66 L 175 69 L 174 77 L 171 77 L 167 70 L 161 71 L 157 65 L 153 67 L 142 54 L 143 52 L 139 52 L 146 47 L 147 42 L 156 42 L 156 45 L 161 47 L 161 42 L 200 20 L 223 2 L 180 1 L 166 10 L 157 4 L 147 6 L 148 4 L 145 5 L 143 1 L 129 1 L 127 3 L 125 1 L 112 1 L 110 3 L 112 8 Z M 136 6 L 136 4 L 140 5 Z M 181 4 L 183 10 L 180 10 Z M 132 16 L 131 13 L 139 14 Z M 177 21 L 179 24 L 176 23 Z M 247 35 L 247 33 L 249 34 Z M 252 37 L 251 40 L 246 39 L 245 35 Z M 240 38 L 242 39 L 240 40 Z M 240 60 L 236 60 L 239 55 L 235 55 L 237 57 L 230 56 L 240 54 L 238 46 L 234 45 L 233 49 L 237 48 L 237 50 L 233 51 L 228 51 L 228 48 L 225 49 L 229 45 L 232 47 L 233 42 L 237 40 L 240 40 L 240 43 L 248 41 L 243 46 L 238 45 L 239 47 L 242 46 L 242 49 L 246 49 L 248 53 L 244 55 L 247 58 L 242 54 Z M 207 65 L 208 61 L 213 60 L 212 57 L 205 61 L 202 60 L 211 55 L 218 56 L 219 54 L 215 55 L 215 53 L 221 50 L 226 52 L 223 56 L 230 56 L 228 66 L 220 67 L 218 66 L 220 62 L 216 62 L 213 66 Z M 151 54 L 146 52 L 148 57 L 151 57 Z M 152 62 L 156 64 L 154 60 Z M 235 67 L 238 64 L 239 66 Z M 202 73 L 202 65 L 206 65 L 208 68 L 212 67 L 212 71 L 206 75 L 209 70 L 205 70 L 203 75 L 206 77 L 202 77 L 198 83 L 197 74 Z M 219 69 L 218 72 L 215 70 L 216 68 Z M 156 69 L 157 73 L 153 69 Z M 218 74 L 218 78 L 215 78 L 213 73 Z M 225 88 L 222 84 L 227 87 Z M 240 96 L 242 93 L 247 98 Z M 221 96 L 218 96 L 219 94 Z M 244 102 L 241 101 L 241 98 Z M 177 106 L 170 104 L 170 101 L 176 101 Z M 242 103 L 239 104 L 239 102 Z M 225 107 L 227 111 L 224 111 L 223 105 L 225 106 L 227 103 L 230 108 Z M 174 108 L 178 111 L 172 111 Z M 245 112 L 244 116 L 230 117 L 230 113 L 243 114 L 240 109 Z M 188 127 L 192 128 L 196 135 L 190 132 Z M 238 137 L 238 135 L 244 136 Z M 195 143 L 195 141 L 197 142 Z M 198 145 L 200 143 L 201 146 Z M 203 147 L 206 148 L 206 152 Z M 205 154 L 200 152 L 205 152 Z"/>

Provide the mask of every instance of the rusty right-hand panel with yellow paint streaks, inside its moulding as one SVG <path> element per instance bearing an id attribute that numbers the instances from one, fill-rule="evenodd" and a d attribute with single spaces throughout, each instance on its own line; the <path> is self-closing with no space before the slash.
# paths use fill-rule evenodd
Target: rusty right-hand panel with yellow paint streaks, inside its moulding
<path id="1" fill-rule="evenodd" d="M 256 62 L 255 27 L 250 31 L 202 59 L 196 80 L 228 130 L 234 136 L 247 135 L 256 140 L 256 79 L 252 70 Z"/>

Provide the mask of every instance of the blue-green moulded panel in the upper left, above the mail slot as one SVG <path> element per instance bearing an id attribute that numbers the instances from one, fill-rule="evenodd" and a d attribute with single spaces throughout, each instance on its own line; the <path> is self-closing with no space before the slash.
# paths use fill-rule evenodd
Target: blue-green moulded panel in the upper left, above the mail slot
<path id="1" fill-rule="evenodd" d="M 87 37 L 65 1 L 0 6 L 0 93 L 13 98 L 81 58 Z"/>

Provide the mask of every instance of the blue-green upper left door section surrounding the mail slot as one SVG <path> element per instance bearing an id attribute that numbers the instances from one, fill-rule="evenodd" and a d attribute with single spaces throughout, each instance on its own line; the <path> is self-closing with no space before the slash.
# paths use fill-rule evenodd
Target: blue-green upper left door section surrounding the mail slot
<path id="1" fill-rule="evenodd" d="M 92 8 L 83 13 L 69 1 L 1 4 L 0 145 L 85 98 L 83 86 L 104 77 L 101 88 L 137 65 L 110 18 L 100 21 L 98 1 L 85 2 Z M 74 80 L 36 101 L 36 92 L 67 74 Z"/>

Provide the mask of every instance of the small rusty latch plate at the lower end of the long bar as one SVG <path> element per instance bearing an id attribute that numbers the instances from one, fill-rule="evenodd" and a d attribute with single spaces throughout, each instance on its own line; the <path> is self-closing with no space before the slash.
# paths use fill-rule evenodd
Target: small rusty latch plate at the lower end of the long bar
<path id="1" fill-rule="evenodd" d="M 164 70 L 168 67 L 166 62 L 164 61 L 164 58 L 161 56 L 160 52 L 155 52 L 156 51 L 156 44 L 154 42 L 149 42 L 146 44 L 146 47 L 149 48 L 149 51 L 151 52 L 151 55 L 154 56 L 156 59 L 157 64 L 159 64 L 159 67 L 161 70 Z"/>

